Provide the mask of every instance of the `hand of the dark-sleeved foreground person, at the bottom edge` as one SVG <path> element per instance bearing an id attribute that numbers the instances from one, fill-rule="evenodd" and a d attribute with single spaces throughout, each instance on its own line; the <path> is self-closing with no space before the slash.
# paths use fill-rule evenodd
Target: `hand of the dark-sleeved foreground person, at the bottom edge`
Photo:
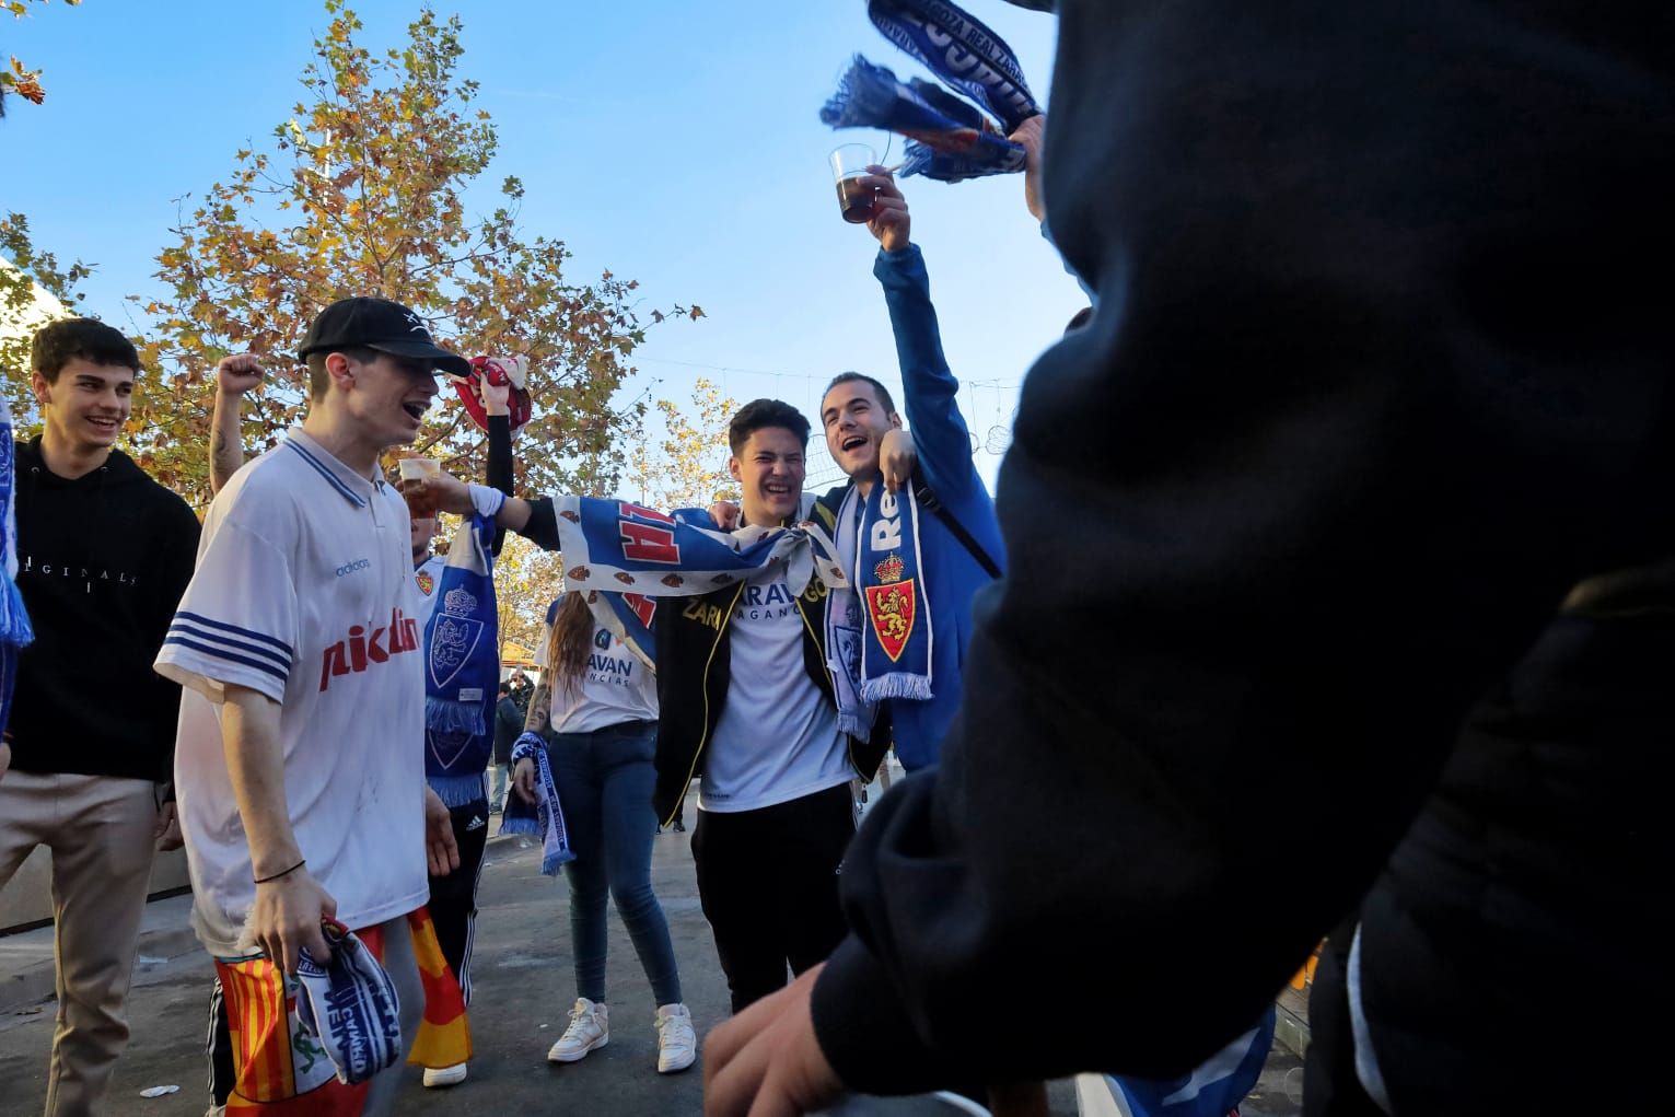
<path id="1" fill-rule="evenodd" d="M 814 1038 L 809 993 L 826 963 L 745 1008 L 704 1040 L 705 1117 L 797 1117 L 843 1082 Z"/>

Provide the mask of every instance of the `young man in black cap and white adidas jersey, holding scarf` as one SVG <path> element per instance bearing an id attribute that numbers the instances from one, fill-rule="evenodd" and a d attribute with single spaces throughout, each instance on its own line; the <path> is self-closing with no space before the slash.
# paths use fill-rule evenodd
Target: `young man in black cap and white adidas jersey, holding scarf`
<path id="1" fill-rule="evenodd" d="M 436 368 L 467 363 L 377 298 L 323 310 L 302 358 L 308 417 L 211 504 L 157 656 L 188 688 L 176 785 L 193 923 L 218 963 L 260 953 L 285 973 L 305 946 L 330 956 L 323 918 L 368 933 L 410 1042 L 424 993 L 407 916 L 425 903 L 427 867 L 457 866 L 457 849 L 412 747 L 424 732 L 419 595 L 407 506 L 379 454 L 417 435 Z M 260 1006 L 229 1008 L 248 1025 L 241 1008 Z M 260 1068 L 250 1028 L 236 1030 L 243 1094 Z M 399 1067 L 377 1075 L 363 1112 L 387 1112 L 397 1082 Z M 328 1087 L 296 1073 L 298 1094 L 315 1085 Z"/>

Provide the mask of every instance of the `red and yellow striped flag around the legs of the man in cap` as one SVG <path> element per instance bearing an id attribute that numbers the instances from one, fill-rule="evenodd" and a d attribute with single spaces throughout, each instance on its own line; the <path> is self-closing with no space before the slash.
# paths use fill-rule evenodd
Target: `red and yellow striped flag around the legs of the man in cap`
<path id="1" fill-rule="evenodd" d="M 424 1020 L 407 1063 L 432 1068 L 462 1063 L 471 1058 L 471 1025 L 459 983 L 436 941 L 430 913 L 424 908 L 409 913 L 407 929 L 424 988 Z M 355 931 L 355 938 L 370 955 L 368 961 L 384 958 L 382 928 L 363 928 Z M 253 1117 L 357 1117 L 367 1100 L 367 1084 L 347 1085 L 338 1077 L 328 1043 L 302 1018 L 302 986 L 285 980 L 280 968 L 261 956 L 216 958 L 214 966 L 233 1040 L 234 1085 L 226 1112 Z M 343 1022 L 347 1020 L 345 1017 Z M 362 1020 L 362 1027 L 370 1025 Z M 338 1035 L 335 1045 L 342 1050 L 353 1042 Z"/>

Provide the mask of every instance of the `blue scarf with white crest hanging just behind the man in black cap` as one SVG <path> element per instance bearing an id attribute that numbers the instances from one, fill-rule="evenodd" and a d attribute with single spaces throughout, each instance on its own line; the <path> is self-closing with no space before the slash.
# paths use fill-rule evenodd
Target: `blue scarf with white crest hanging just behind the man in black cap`
<path id="1" fill-rule="evenodd" d="M 494 755 L 501 643 L 492 541 L 491 517 L 472 514 L 461 524 L 424 630 L 424 770 L 449 807 L 482 799 L 482 774 Z"/>

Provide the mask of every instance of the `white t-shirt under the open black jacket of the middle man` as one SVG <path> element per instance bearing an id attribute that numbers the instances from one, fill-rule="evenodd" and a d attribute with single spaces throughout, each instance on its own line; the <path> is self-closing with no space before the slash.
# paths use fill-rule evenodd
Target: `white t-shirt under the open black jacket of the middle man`
<path id="1" fill-rule="evenodd" d="M 786 579 L 744 586 L 729 623 L 732 677 L 698 807 L 755 811 L 849 782 L 838 710 L 804 668 L 806 621 Z"/>

